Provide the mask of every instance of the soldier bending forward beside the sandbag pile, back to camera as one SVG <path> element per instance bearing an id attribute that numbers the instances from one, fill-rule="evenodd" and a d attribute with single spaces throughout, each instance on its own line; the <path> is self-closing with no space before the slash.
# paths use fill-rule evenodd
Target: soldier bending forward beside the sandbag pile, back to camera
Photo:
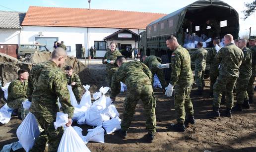
<path id="1" fill-rule="evenodd" d="M 122 138 L 127 137 L 127 131 L 136 104 L 140 99 L 143 102 L 145 110 L 146 129 L 148 131 L 147 139 L 148 142 L 152 143 L 156 132 L 156 101 L 151 85 L 151 72 L 149 68 L 140 61 L 133 60 L 127 62 L 125 56 L 118 56 L 117 65 L 119 68 L 112 79 L 110 98 L 115 101 L 116 96 L 120 93 L 120 81 L 127 85 L 127 96 L 124 101 L 125 110 L 123 113 L 120 135 Z"/>

